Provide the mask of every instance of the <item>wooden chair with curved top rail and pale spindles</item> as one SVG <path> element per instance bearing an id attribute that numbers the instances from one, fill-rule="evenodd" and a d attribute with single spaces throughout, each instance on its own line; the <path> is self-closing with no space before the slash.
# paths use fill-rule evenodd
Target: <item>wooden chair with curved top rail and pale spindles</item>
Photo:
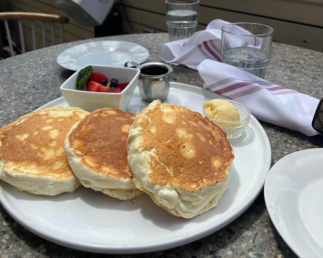
<path id="1" fill-rule="evenodd" d="M 59 16 L 59 15 L 52 15 L 52 14 L 42 14 L 42 13 L 25 13 L 25 12 L 2 12 L 0 13 L 0 21 L 3 20 L 5 22 L 5 32 L 8 37 L 9 47 L 11 56 L 13 56 L 13 47 L 12 41 L 8 26 L 8 20 L 17 20 L 18 21 L 18 29 L 19 29 L 19 36 L 21 42 L 21 50 L 22 53 L 26 52 L 25 49 L 25 41 L 24 41 L 24 34 L 22 30 L 22 23 L 21 20 L 30 20 L 31 21 L 31 32 L 33 38 L 33 50 L 36 49 L 36 32 L 35 32 L 35 21 L 42 21 L 43 22 L 43 47 L 46 46 L 46 31 L 45 31 L 45 22 L 51 23 L 51 33 L 52 33 L 52 45 L 55 45 L 55 23 L 59 23 L 61 25 L 61 43 L 64 43 L 64 24 L 69 22 L 68 17 Z"/>

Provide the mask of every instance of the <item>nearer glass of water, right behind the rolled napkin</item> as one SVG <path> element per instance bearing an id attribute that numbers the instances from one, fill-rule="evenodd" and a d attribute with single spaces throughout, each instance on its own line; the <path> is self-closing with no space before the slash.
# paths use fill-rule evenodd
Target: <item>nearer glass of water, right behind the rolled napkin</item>
<path id="1" fill-rule="evenodd" d="M 231 23 L 221 31 L 222 62 L 264 79 L 274 30 L 257 23 Z"/>

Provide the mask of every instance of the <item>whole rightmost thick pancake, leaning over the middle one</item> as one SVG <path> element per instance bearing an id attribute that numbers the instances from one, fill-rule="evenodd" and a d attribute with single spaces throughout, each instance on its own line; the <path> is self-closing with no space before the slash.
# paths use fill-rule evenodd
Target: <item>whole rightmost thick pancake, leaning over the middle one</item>
<path id="1" fill-rule="evenodd" d="M 217 205 L 234 159 L 220 127 L 200 113 L 160 100 L 136 115 L 127 150 L 136 186 L 184 218 Z"/>

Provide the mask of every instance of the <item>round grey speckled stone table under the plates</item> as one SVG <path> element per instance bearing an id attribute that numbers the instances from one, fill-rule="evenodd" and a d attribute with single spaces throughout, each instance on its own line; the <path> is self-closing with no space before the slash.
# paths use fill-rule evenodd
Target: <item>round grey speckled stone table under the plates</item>
<path id="1" fill-rule="evenodd" d="M 93 40 L 125 40 L 145 46 L 147 62 L 160 61 L 157 49 L 167 41 L 167 34 L 120 35 Z M 71 75 L 60 67 L 57 55 L 85 40 L 43 48 L 0 61 L 0 126 L 16 120 L 37 107 L 60 97 L 59 86 Z M 274 43 L 266 79 L 287 88 L 323 96 L 323 53 L 291 45 Z M 172 81 L 202 86 L 197 71 L 175 66 Z M 292 114 L 291 114 L 292 115 Z M 261 123 L 272 150 L 272 165 L 292 152 L 323 147 L 323 137 L 306 137 L 272 124 Z M 0 257 L 97 257 L 48 242 L 29 232 L 0 206 Z M 270 221 L 263 192 L 234 222 L 201 240 L 173 249 L 134 255 L 105 257 L 296 257 Z"/>

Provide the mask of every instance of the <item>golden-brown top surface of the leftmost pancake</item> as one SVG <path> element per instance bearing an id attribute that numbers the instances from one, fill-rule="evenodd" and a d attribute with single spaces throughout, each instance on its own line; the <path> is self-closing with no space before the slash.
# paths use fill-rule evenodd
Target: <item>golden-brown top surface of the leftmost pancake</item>
<path id="1" fill-rule="evenodd" d="M 64 153 L 70 127 L 87 112 L 54 107 L 34 111 L 0 129 L 0 158 L 10 173 L 74 176 Z"/>

